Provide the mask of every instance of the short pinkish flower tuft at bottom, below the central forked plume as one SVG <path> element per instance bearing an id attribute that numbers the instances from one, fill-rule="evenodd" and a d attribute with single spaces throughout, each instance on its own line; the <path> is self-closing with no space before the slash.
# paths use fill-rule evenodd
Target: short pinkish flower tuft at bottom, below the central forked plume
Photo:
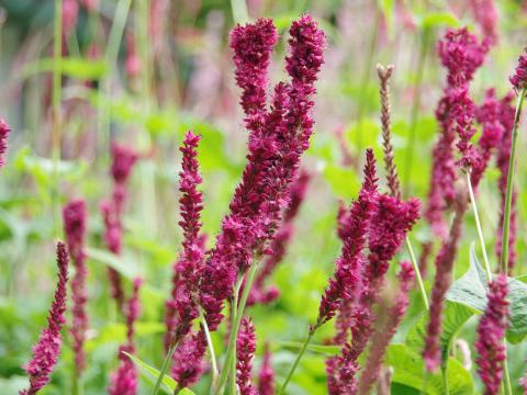
<path id="1" fill-rule="evenodd" d="M 195 384 L 203 374 L 206 363 L 206 337 L 203 329 L 187 335 L 176 349 L 172 359 L 171 375 L 181 388 Z"/>

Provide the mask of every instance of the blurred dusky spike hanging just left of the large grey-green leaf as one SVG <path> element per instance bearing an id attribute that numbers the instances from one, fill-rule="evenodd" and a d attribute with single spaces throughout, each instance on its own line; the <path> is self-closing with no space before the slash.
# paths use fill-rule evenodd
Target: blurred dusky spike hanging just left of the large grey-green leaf
<path id="1" fill-rule="evenodd" d="M 431 289 L 429 320 L 426 328 L 425 348 L 423 350 L 423 358 L 425 359 L 426 369 L 429 372 L 437 371 L 441 362 L 439 336 L 441 334 L 445 294 L 452 281 L 452 268 L 458 252 L 463 215 L 467 207 L 467 191 L 460 190 L 455 201 L 455 217 L 450 225 L 448 239 L 442 241 L 441 248 L 436 257 L 436 276 L 434 278 L 434 286 Z"/>

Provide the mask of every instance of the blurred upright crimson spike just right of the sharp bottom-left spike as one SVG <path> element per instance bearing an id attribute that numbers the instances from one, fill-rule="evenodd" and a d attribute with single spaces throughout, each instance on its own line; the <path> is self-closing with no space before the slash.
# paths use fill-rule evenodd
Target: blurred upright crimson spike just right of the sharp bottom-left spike
<path id="1" fill-rule="evenodd" d="M 77 373 L 86 368 L 86 353 L 83 343 L 88 329 L 88 315 L 86 313 L 86 267 L 85 236 L 86 236 L 86 203 L 81 199 L 72 200 L 63 210 L 64 233 L 68 245 L 69 256 L 75 267 L 75 275 L 71 279 L 71 300 L 74 301 L 71 338 L 75 353 L 75 366 Z"/>

